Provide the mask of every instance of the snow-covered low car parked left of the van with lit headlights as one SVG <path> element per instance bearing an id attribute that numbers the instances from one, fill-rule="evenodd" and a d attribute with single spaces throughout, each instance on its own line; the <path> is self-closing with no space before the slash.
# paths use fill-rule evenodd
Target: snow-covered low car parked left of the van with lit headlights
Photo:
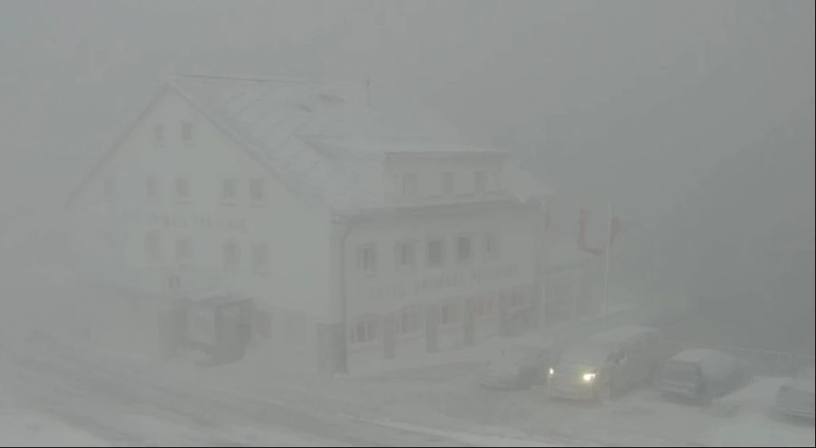
<path id="1" fill-rule="evenodd" d="M 485 365 L 479 383 L 486 387 L 529 389 L 547 379 L 555 349 L 546 343 L 517 343 Z"/>

